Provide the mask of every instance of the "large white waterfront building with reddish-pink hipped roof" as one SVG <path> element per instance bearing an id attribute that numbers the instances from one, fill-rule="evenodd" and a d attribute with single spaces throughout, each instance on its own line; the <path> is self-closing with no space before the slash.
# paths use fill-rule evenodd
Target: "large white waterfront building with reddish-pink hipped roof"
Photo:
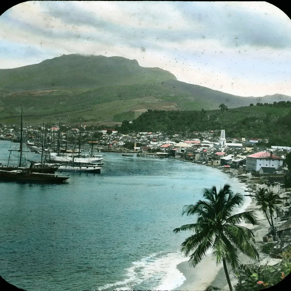
<path id="1" fill-rule="evenodd" d="M 283 159 L 272 152 L 258 152 L 246 157 L 246 170 L 258 172 L 260 168 L 268 167 L 278 169 L 283 167 Z"/>

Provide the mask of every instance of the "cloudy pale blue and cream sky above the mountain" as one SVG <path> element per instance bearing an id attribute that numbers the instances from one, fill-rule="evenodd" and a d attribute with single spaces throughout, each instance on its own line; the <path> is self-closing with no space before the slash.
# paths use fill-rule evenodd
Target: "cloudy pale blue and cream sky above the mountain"
<path id="1" fill-rule="evenodd" d="M 263 1 L 27 1 L 0 27 L 0 69 L 122 56 L 225 93 L 291 96 L 291 20 Z"/>

